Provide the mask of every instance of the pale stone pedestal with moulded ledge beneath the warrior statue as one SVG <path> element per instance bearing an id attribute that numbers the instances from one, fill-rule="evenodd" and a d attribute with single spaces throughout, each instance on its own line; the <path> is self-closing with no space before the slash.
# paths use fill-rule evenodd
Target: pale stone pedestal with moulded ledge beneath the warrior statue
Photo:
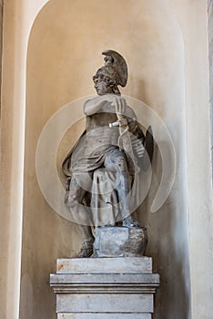
<path id="1" fill-rule="evenodd" d="M 159 276 L 147 257 L 58 259 L 57 319 L 151 319 Z"/>

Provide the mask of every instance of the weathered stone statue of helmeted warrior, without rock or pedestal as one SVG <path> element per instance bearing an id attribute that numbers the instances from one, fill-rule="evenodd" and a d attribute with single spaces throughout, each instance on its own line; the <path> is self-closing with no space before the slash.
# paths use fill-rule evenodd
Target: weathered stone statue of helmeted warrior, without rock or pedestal
<path id="1" fill-rule="evenodd" d="M 113 50 L 103 55 L 105 66 L 93 77 L 97 96 L 84 105 L 86 130 L 63 163 L 66 206 L 83 234 L 76 257 L 93 254 L 93 226 L 139 227 L 131 216 L 128 194 L 140 167 L 147 165 L 145 149 L 148 161 L 153 152 L 151 129 L 145 137 L 134 110 L 127 106 L 117 87 L 127 84 L 125 59 Z M 111 215 L 108 207 L 114 210 Z"/>

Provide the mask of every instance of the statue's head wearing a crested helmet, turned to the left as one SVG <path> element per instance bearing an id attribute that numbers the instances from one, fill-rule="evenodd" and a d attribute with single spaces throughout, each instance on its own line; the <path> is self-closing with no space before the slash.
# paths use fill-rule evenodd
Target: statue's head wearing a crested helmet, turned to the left
<path id="1" fill-rule="evenodd" d="M 120 94 L 118 85 L 125 87 L 127 84 L 127 63 L 124 57 L 116 51 L 107 50 L 105 55 L 105 66 L 96 71 L 93 81 L 98 95 L 107 93 Z"/>

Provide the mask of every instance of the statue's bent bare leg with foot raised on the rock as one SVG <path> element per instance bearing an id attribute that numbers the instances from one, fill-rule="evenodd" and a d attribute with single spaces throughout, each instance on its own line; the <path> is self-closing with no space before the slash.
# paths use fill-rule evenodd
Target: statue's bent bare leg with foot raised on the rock
<path id="1" fill-rule="evenodd" d="M 127 227 L 138 227 L 137 221 L 133 221 L 128 205 L 128 192 L 130 190 L 130 177 L 127 168 L 127 158 L 123 151 L 113 149 L 106 156 L 105 166 L 115 168 L 117 172 L 117 195 L 120 211 L 123 218 L 123 225 Z"/>

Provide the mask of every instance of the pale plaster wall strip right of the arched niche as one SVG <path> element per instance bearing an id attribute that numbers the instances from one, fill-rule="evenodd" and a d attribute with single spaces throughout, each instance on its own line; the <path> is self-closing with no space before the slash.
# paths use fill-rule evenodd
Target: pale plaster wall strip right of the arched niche
<path id="1" fill-rule="evenodd" d="M 185 18 L 181 9 L 183 4 L 186 5 Z M 213 280 L 208 2 L 205 1 L 204 5 L 203 2 L 186 4 L 180 1 L 176 16 L 186 43 L 185 96 L 191 316 L 210 319 L 211 303 L 198 302 L 208 300 L 212 293 Z M 188 24 L 188 21 L 191 23 Z M 202 21 L 202 24 L 198 21 Z"/>

